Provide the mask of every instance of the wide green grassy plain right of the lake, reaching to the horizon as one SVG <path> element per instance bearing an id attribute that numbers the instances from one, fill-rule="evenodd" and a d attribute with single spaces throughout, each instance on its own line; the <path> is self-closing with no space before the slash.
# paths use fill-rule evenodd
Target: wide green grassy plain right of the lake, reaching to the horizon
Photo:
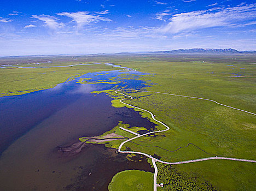
<path id="1" fill-rule="evenodd" d="M 160 56 L 159 56 L 160 57 Z M 254 66 L 255 56 L 223 56 L 224 58 L 177 58 L 153 57 L 121 64 L 139 71 L 154 74 L 142 77 L 152 80 L 148 91 L 181 94 L 216 100 L 235 108 L 256 112 L 256 89 Z M 220 56 L 221 57 L 221 56 Z M 230 77 L 230 76 L 248 77 Z M 254 77 L 252 77 L 254 76 Z M 143 97 L 145 95 L 150 95 Z M 160 146 L 160 148 L 142 147 L 126 144 L 133 151 L 157 154 L 166 161 L 181 161 L 209 156 L 256 159 L 256 118 L 245 112 L 190 98 L 181 98 L 156 93 L 131 93 L 139 99 L 126 100 L 131 105 L 152 111 L 160 121 L 172 129 L 156 136 L 136 139 L 137 144 Z M 213 187 L 222 190 L 253 190 L 256 187 L 256 165 L 230 161 L 207 161 L 177 165 L 178 171 L 188 176 L 196 175 L 210 182 Z"/>

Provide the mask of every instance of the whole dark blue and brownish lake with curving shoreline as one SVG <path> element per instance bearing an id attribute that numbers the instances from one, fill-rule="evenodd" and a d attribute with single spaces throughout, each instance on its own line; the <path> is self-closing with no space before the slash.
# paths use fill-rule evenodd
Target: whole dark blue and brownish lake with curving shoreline
<path id="1" fill-rule="evenodd" d="M 111 178 L 121 170 L 150 171 L 146 159 L 140 163 L 127 162 L 125 154 L 117 154 L 103 145 L 86 146 L 73 157 L 57 152 L 57 146 L 71 145 L 82 136 L 100 135 L 119 121 L 131 127 L 155 126 L 141 118 L 139 112 L 113 108 L 112 98 L 106 94 L 90 93 L 117 85 L 146 87 L 146 82 L 138 79 L 143 73 L 134 70 L 125 71 L 133 74 L 133 79 L 109 79 L 120 74 L 124 71 L 85 74 L 51 89 L 1 97 L 0 190 L 107 190 Z M 77 83 L 81 78 L 117 83 Z"/>

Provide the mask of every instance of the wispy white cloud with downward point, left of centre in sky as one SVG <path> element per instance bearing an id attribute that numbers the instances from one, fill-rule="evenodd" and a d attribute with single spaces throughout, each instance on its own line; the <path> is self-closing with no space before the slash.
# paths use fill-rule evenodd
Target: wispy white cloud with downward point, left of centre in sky
<path id="1" fill-rule="evenodd" d="M 108 12 L 103 11 L 102 13 L 107 14 Z M 88 11 L 79 11 L 76 13 L 63 12 L 63 13 L 58 13 L 57 15 L 71 17 L 73 19 L 72 21 L 77 23 L 78 29 L 82 28 L 84 25 L 89 25 L 90 23 L 95 23 L 100 21 L 112 21 L 106 17 L 102 17 L 96 14 L 91 14 Z"/>

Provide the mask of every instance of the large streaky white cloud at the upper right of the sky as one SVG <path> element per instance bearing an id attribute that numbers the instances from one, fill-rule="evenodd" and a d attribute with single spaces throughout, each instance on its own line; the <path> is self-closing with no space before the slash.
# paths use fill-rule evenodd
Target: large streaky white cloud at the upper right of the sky
<path id="1" fill-rule="evenodd" d="M 218 8 L 209 10 L 192 11 L 173 15 L 168 25 L 161 27 L 160 32 L 179 33 L 182 31 L 193 31 L 201 28 L 236 25 L 236 22 L 243 19 L 256 17 L 256 4 Z M 162 13 L 164 14 L 164 13 Z M 159 20 L 161 16 L 156 15 Z"/>

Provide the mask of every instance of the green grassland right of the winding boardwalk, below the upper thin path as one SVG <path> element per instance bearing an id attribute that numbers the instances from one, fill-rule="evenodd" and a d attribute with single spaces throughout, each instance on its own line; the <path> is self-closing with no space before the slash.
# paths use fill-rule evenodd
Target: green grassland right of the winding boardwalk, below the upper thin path
<path id="1" fill-rule="evenodd" d="M 132 94 L 132 96 L 135 97 L 142 96 L 142 94 L 149 94 L 146 92 L 124 92 L 127 94 Z M 170 97 L 167 95 L 163 96 Z M 178 99 L 179 97 L 174 98 Z M 119 102 L 119 99 L 116 100 Z M 154 114 L 156 114 L 156 118 L 158 120 L 161 120 L 161 117 L 164 116 L 164 114 L 167 113 L 168 110 L 170 110 L 170 108 L 163 103 L 168 103 L 167 105 L 171 105 L 173 100 L 172 102 L 170 102 L 170 99 L 168 98 L 161 98 L 159 102 L 155 102 L 154 100 L 152 100 L 152 102 L 149 102 L 149 99 L 150 97 L 141 97 L 139 98 L 139 100 L 125 100 L 125 102 L 131 105 L 136 105 L 141 108 L 148 109 L 150 111 L 155 111 Z M 187 146 L 187 144 L 191 142 L 210 154 L 207 154 L 199 150 L 195 146 L 191 145 L 188 146 L 187 148 L 181 148 L 180 150 L 175 152 L 168 152 L 165 150 L 161 150 L 160 148 L 141 147 L 129 142 L 124 145 L 123 150 L 125 150 L 125 148 L 128 146 L 131 148 L 132 151 L 141 151 L 152 155 L 157 154 L 158 156 L 162 157 L 162 160 L 168 162 L 177 162 L 182 160 L 205 158 L 212 156 L 255 159 L 255 133 L 252 132 L 252 130 L 254 129 L 249 128 L 253 127 L 253 125 L 255 126 L 255 119 L 253 118 L 253 116 L 243 113 L 242 115 L 241 111 L 233 111 L 232 109 L 224 108 L 223 106 L 218 106 L 217 104 L 214 105 L 214 103 L 211 102 L 206 102 L 203 100 L 198 101 L 196 100 L 196 102 L 193 101 L 193 103 L 190 103 L 187 100 L 185 103 L 183 103 L 185 106 L 182 106 L 182 101 L 176 100 L 176 103 L 180 104 L 178 107 L 179 110 L 182 110 L 183 108 L 182 111 L 184 114 L 182 115 L 186 115 L 185 117 L 183 116 L 183 118 L 178 117 L 176 119 L 174 117 L 172 119 L 173 121 L 177 120 L 176 123 L 178 125 L 174 122 L 169 122 L 170 115 L 176 116 L 178 111 L 173 110 L 173 113 L 169 111 L 167 113 L 169 116 L 166 116 L 165 120 L 161 120 L 168 124 L 169 127 L 171 127 L 171 129 L 168 132 L 158 133 L 158 136 L 156 136 L 155 138 L 151 136 L 141 137 L 139 139 L 133 140 L 133 142 L 136 142 L 137 144 L 144 146 L 159 146 L 170 151 L 176 150 L 178 147 Z M 206 103 L 203 104 L 203 106 L 201 106 L 200 102 Z M 162 106 L 163 108 L 159 109 L 159 107 L 156 107 L 156 105 L 158 104 L 159 107 Z M 209 108 L 205 109 L 205 105 L 207 106 L 207 104 L 210 104 L 209 108 L 223 107 L 225 111 L 223 111 L 222 115 L 219 115 L 219 112 L 217 112 L 217 114 L 211 112 L 211 115 L 205 117 L 202 114 L 203 112 L 209 110 Z M 194 110 L 193 108 L 195 108 L 196 106 L 198 106 L 199 109 Z M 159 109 L 159 113 L 156 111 L 156 109 Z M 187 113 L 185 113 L 185 111 Z M 231 112 L 231 114 L 229 114 L 229 112 Z M 246 124 L 246 126 L 242 124 Z M 114 132 L 118 127 L 119 126 L 113 129 Z M 112 132 L 112 130 L 110 132 Z M 125 133 L 127 136 L 129 136 L 129 133 L 127 134 L 127 132 L 122 132 L 121 129 L 118 129 L 118 132 L 116 133 Z M 161 135 L 164 135 L 165 137 Z M 107 144 L 106 146 L 118 148 L 121 142 L 121 140 L 110 141 L 109 144 Z M 255 187 L 256 166 L 255 164 L 251 163 L 212 160 L 199 163 L 176 165 L 174 166 L 174 169 L 177 172 L 175 173 L 175 176 L 179 177 L 178 179 L 176 179 L 175 182 L 171 181 L 172 178 L 169 177 L 170 174 L 168 174 L 168 171 L 166 171 L 166 175 L 162 174 L 162 172 L 160 172 L 159 174 L 160 177 L 169 177 L 167 178 L 167 180 L 172 182 L 173 190 L 175 190 L 174 188 L 176 188 L 177 185 L 183 185 L 182 187 L 185 189 L 186 186 L 190 188 L 190 186 L 194 184 L 199 190 L 202 190 L 203 188 L 205 188 L 205 186 L 209 185 L 209 189 L 211 188 L 210 190 L 253 190 L 253 188 Z M 185 176 L 183 176 L 184 174 Z M 196 180 L 196 182 L 193 182 L 192 180 Z M 187 182 L 191 181 L 193 183 L 187 184 Z M 197 181 L 203 182 L 203 184 L 198 184 Z M 179 188 L 179 186 L 177 188 Z"/>

